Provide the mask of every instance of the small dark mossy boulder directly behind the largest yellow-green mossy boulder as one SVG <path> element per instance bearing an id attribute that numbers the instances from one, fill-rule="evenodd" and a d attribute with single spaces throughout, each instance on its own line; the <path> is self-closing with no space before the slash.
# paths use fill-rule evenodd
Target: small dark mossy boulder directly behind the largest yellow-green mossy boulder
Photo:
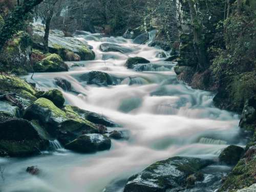
<path id="1" fill-rule="evenodd" d="M 35 96 L 37 98 L 41 98 L 44 97 L 46 99 L 51 100 L 56 106 L 60 107 L 63 106 L 63 104 L 65 103 L 65 99 L 61 93 L 61 91 L 57 90 L 57 89 L 53 89 L 47 92 L 37 92 L 35 94 Z"/>

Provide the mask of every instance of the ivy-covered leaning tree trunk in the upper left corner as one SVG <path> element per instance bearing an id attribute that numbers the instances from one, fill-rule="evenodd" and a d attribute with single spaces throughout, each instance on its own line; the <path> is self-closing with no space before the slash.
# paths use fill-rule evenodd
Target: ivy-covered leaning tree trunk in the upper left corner
<path id="1" fill-rule="evenodd" d="M 0 33 L 0 52 L 6 41 L 24 27 L 24 21 L 27 19 L 28 13 L 42 1 L 44 0 L 26 0 L 22 5 L 17 6 L 14 11 L 8 14 Z"/>

